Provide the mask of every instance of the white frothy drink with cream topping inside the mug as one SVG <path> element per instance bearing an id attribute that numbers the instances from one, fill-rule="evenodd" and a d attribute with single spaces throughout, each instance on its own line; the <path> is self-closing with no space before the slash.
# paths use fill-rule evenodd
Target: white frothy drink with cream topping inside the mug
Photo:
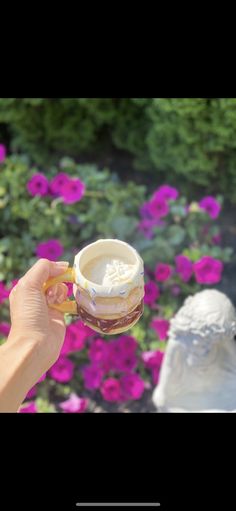
<path id="1" fill-rule="evenodd" d="M 116 257 L 95 257 L 83 268 L 85 278 L 101 286 L 114 286 L 132 278 L 134 265 Z"/>

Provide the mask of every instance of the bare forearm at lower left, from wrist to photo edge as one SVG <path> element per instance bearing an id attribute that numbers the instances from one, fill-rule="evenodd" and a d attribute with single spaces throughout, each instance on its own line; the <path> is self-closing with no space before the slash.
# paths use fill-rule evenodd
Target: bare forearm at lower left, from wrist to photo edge
<path id="1" fill-rule="evenodd" d="M 35 349 L 24 340 L 9 338 L 0 346 L 0 412 L 17 412 L 38 379 Z"/>

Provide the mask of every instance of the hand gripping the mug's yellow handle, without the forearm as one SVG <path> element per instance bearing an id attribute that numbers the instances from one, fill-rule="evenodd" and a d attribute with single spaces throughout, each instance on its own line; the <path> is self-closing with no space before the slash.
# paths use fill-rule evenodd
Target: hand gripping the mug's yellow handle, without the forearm
<path id="1" fill-rule="evenodd" d="M 64 315 L 50 307 L 66 299 L 67 286 L 57 284 L 47 291 L 42 286 L 49 277 L 66 272 L 67 262 L 40 259 L 18 281 L 10 293 L 11 331 L 13 338 L 37 352 L 36 374 L 42 376 L 58 359 L 65 337 Z"/>

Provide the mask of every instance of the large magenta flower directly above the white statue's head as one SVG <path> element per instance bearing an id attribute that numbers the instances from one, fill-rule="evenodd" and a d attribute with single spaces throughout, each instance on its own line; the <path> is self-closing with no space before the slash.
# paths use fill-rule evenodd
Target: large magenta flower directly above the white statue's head
<path id="1" fill-rule="evenodd" d="M 193 271 L 199 284 L 217 284 L 221 280 L 223 263 L 211 256 L 203 256 L 194 263 Z"/>

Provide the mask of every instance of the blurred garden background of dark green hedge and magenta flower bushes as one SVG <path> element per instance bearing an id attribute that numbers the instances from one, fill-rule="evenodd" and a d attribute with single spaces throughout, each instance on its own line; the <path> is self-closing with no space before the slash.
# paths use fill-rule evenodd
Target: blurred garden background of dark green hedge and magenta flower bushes
<path id="1" fill-rule="evenodd" d="M 211 286 L 236 303 L 235 135 L 234 98 L 0 98 L 1 342 L 9 292 L 38 257 L 72 264 L 116 237 L 145 263 L 138 324 L 108 339 L 67 317 L 60 359 L 22 411 L 154 411 L 184 298 Z"/>

